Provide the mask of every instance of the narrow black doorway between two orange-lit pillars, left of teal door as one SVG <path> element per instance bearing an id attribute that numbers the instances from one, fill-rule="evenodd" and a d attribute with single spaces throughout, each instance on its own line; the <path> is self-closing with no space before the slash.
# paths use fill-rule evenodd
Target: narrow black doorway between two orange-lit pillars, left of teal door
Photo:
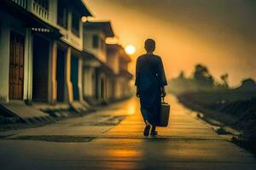
<path id="1" fill-rule="evenodd" d="M 58 48 L 57 52 L 57 101 L 64 101 L 65 94 L 65 51 Z"/>

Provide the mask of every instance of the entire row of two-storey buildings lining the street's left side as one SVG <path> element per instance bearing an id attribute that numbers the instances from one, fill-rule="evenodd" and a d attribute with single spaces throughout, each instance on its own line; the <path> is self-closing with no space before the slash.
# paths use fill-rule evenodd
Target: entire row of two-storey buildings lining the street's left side
<path id="1" fill-rule="evenodd" d="M 131 74 L 122 65 L 130 58 L 106 44 L 114 37 L 110 22 L 83 23 L 83 16 L 91 14 L 82 0 L 0 1 L 0 104 L 86 111 L 85 101 L 128 96 Z"/>

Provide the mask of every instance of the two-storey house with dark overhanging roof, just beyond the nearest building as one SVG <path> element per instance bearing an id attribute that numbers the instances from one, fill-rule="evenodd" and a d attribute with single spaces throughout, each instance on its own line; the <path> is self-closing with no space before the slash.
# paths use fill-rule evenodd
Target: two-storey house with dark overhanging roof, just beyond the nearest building
<path id="1" fill-rule="evenodd" d="M 84 23 L 84 99 L 91 105 L 107 102 L 107 37 L 114 37 L 110 22 Z"/>

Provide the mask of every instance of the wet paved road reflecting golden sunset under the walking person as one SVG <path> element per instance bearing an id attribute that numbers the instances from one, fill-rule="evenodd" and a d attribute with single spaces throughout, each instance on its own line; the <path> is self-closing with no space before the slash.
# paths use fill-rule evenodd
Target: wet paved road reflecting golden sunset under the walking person
<path id="1" fill-rule="evenodd" d="M 5 169 L 256 169 L 256 159 L 172 96 L 169 127 L 143 136 L 136 98 L 83 117 L 0 133 Z"/>

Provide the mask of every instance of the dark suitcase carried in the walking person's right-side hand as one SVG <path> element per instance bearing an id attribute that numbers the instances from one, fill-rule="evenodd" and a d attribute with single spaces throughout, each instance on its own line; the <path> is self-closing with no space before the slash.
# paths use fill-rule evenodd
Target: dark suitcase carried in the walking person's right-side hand
<path id="1" fill-rule="evenodd" d="M 165 99 L 163 98 L 163 101 L 161 102 L 160 107 L 160 116 L 158 120 L 158 127 L 167 127 L 169 122 L 169 116 L 170 116 L 170 108 L 171 105 L 165 102 Z"/>

